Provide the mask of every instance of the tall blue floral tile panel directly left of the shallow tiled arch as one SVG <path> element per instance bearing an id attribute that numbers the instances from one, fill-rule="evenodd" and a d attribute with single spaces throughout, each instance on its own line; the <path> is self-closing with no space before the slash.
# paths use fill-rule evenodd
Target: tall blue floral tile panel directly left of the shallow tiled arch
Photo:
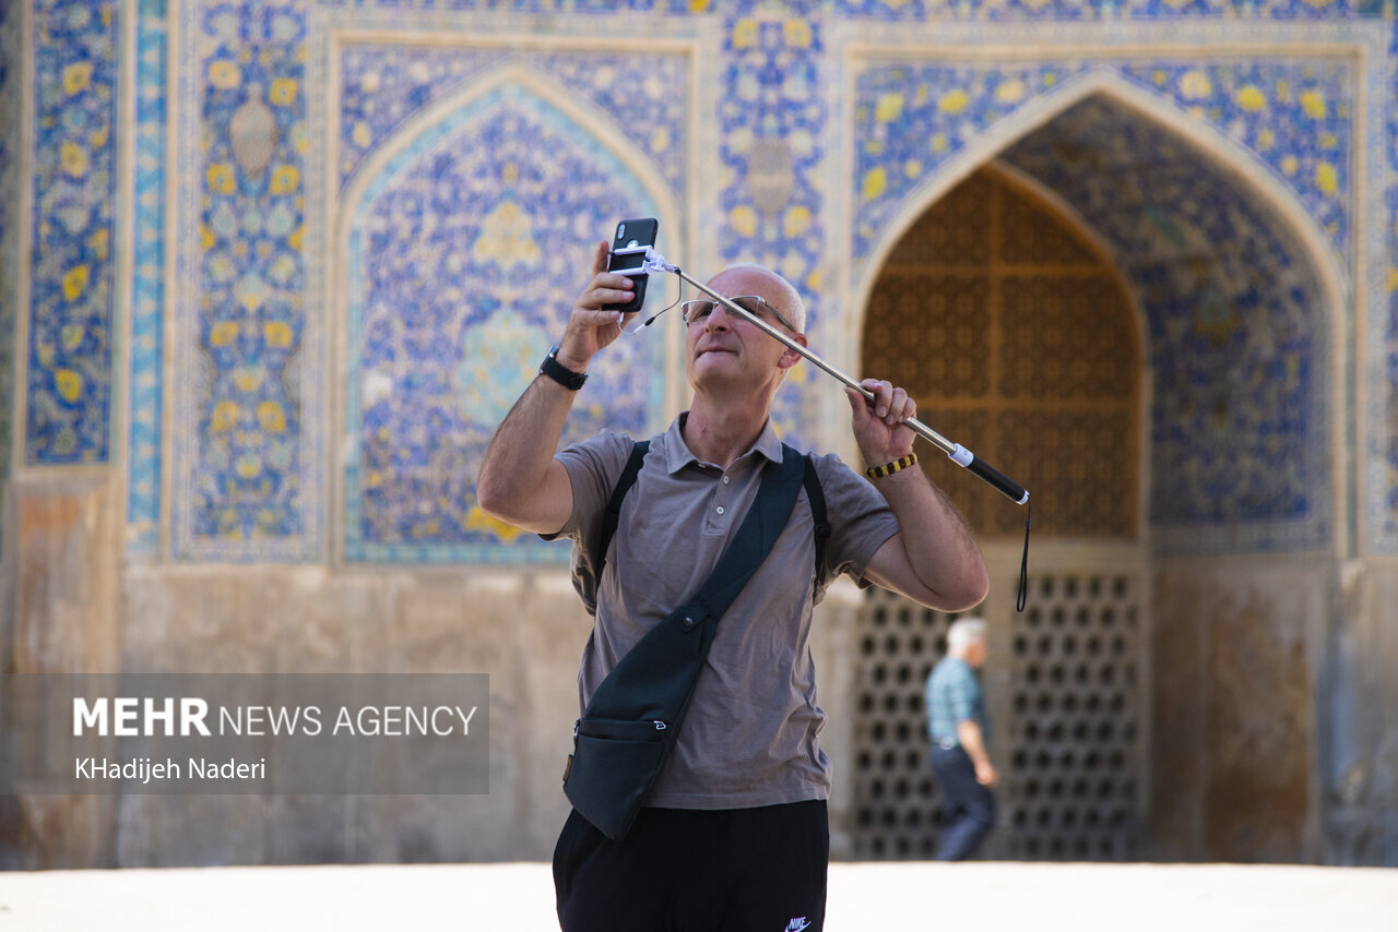
<path id="1" fill-rule="evenodd" d="M 305 552 L 322 483 L 308 471 L 302 398 L 320 359 L 306 361 L 305 21 L 295 4 L 186 8 L 197 35 L 200 136 L 186 180 L 196 186 L 197 307 L 178 355 L 190 380 L 176 423 L 172 500 L 178 556 L 207 544 L 253 542 L 240 559 Z M 193 312 L 193 313 L 192 313 Z M 320 412 L 313 412 L 320 418 Z M 291 541 L 282 551 L 261 542 Z M 232 555 L 219 551 L 219 559 Z M 238 559 L 238 558 L 233 558 Z"/>

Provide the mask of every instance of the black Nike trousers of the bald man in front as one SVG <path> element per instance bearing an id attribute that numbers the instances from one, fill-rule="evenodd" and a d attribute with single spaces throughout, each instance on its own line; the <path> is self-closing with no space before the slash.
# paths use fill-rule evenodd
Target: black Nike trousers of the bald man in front
<path id="1" fill-rule="evenodd" d="M 563 932 L 819 932 L 823 799 L 758 809 L 644 808 L 622 841 L 575 810 L 554 850 Z"/>

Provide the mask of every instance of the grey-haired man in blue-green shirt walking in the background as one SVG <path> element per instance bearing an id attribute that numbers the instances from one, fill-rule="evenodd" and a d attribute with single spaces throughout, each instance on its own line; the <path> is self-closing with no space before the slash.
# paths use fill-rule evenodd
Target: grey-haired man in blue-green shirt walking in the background
<path id="1" fill-rule="evenodd" d="M 927 734 L 942 788 L 946 826 L 938 861 L 963 861 L 995 824 L 1000 776 L 986 750 L 986 700 L 976 671 L 986 662 L 986 622 L 960 618 L 946 632 L 946 657 L 927 678 Z"/>

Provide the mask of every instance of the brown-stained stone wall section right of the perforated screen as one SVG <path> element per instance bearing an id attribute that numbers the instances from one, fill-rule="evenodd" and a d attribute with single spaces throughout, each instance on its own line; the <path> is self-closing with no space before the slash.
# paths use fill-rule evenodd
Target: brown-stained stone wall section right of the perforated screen
<path id="1" fill-rule="evenodd" d="M 1324 558 L 1156 566 L 1151 780 L 1160 857 L 1318 858 L 1317 686 L 1335 590 Z"/>

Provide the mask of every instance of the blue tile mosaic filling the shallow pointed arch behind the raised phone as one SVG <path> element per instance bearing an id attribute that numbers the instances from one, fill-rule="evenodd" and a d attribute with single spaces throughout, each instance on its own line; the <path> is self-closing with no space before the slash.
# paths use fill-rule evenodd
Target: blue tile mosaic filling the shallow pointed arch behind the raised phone
<path id="1" fill-rule="evenodd" d="M 347 560 L 566 559 L 489 518 L 475 476 L 495 428 L 562 334 L 590 233 L 654 215 L 586 127 L 519 85 L 435 123 L 370 180 L 350 239 Z M 563 443 L 646 436 L 661 347 L 598 356 Z M 502 545 L 505 544 L 505 545 Z"/>

